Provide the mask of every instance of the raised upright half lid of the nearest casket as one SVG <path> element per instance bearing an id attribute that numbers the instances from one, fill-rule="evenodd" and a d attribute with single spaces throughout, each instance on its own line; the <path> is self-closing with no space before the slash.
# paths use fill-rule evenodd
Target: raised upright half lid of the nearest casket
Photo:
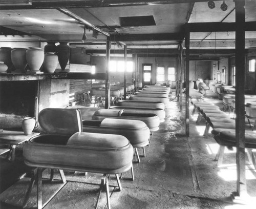
<path id="1" fill-rule="evenodd" d="M 40 127 L 49 134 L 72 135 L 82 130 L 79 110 L 46 108 L 38 115 Z"/>

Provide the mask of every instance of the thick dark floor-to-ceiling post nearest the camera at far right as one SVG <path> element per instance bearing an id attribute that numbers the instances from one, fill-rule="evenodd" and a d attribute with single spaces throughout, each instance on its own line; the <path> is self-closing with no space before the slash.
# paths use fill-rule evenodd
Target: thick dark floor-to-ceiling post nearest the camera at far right
<path id="1" fill-rule="evenodd" d="M 245 178 L 245 2 L 235 0 L 236 6 L 236 141 L 237 141 L 237 192 L 246 194 Z"/>

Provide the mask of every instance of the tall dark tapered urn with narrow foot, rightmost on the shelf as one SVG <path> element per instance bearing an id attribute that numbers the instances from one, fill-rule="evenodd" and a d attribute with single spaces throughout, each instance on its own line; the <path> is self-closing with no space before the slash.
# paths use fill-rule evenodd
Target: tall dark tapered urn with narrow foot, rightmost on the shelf
<path id="1" fill-rule="evenodd" d="M 70 56 L 70 47 L 67 42 L 59 43 L 57 46 L 57 55 L 61 71 L 64 72 Z"/>

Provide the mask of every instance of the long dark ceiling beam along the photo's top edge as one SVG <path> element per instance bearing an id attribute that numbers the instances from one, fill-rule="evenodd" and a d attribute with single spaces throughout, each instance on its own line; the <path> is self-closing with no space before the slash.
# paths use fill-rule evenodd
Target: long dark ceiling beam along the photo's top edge
<path id="1" fill-rule="evenodd" d="M 215 0 L 222 1 L 222 0 Z M 11 2 L 11 0 L 9 0 Z M 194 0 L 193 2 L 208 2 L 208 0 Z M 140 6 L 140 5 L 162 5 L 162 4 L 191 3 L 191 0 L 32 0 L 32 5 L 8 5 L 0 4 L 0 10 L 12 9 L 52 9 L 52 8 L 86 8 L 86 7 L 118 7 L 118 6 Z"/>

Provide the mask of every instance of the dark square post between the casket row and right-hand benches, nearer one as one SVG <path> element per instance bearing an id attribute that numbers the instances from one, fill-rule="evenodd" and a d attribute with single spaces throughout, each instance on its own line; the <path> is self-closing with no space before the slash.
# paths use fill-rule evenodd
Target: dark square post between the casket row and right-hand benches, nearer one
<path id="1" fill-rule="evenodd" d="M 186 31 L 185 37 L 185 47 L 186 47 L 186 68 L 185 68 L 185 88 L 186 88 L 186 136 L 189 136 L 189 42 L 190 42 L 190 32 Z"/>

